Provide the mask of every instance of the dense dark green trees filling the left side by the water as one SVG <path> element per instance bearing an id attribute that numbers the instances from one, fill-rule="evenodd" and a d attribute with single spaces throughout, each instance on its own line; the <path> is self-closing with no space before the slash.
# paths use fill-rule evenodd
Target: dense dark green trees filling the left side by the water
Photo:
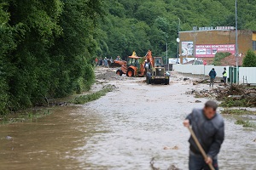
<path id="1" fill-rule="evenodd" d="M 90 89 L 101 0 L 0 1 L 0 115 Z"/>

